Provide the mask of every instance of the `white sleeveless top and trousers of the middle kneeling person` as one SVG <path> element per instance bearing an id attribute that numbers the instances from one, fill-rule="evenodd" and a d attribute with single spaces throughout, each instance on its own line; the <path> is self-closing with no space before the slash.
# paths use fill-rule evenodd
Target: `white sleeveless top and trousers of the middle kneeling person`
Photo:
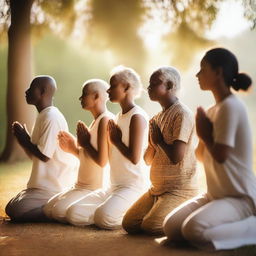
<path id="1" fill-rule="evenodd" d="M 122 141 L 129 145 L 130 121 L 133 115 L 141 115 L 147 122 L 143 137 L 141 159 L 133 164 L 114 146 L 110 146 L 110 181 L 108 190 L 98 190 L 74 203 L 67 211 L 67 221 L 79 226 L 96 224 L 101 228 L 115 229 L 121 226 L 126 211 L 145 192 L 143 151 L 147 146 L 148 116 L 135 106 L 125 114 L 117 115 L 116 123 L 122 131 Z M 144 173 L 143 173 L 144 172 Z"/>

